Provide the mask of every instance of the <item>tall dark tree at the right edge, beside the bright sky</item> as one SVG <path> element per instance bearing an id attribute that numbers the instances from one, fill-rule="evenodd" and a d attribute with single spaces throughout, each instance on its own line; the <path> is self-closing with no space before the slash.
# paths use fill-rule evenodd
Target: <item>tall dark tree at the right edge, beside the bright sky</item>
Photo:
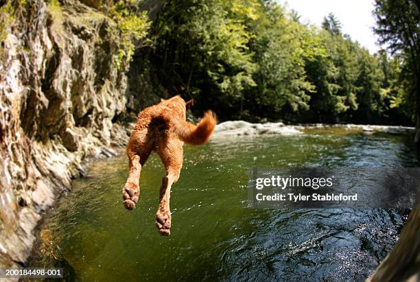
<path id="1" fill-rule="evenodd" d="M 416 136 L 420 145 L 420 7 L 415 0 L 375 0 L 373 11 L 380 36 L 391 54 L 403 58 L 401 78 L 408 83 L 408 93 L 415 104 Z"/>

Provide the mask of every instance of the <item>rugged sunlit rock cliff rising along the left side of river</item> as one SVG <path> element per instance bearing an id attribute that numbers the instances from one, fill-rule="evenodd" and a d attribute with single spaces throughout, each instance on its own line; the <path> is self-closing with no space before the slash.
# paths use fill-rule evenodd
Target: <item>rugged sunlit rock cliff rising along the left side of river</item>
<path id="1" fill-rule="evenodd" d="M 150 92 L 116 61 L 115 22 L 84 2 L 0 1 L 0 266 L 25 262 L 42 213 L 86 158 L 126 142 L 126 108 Z"/>

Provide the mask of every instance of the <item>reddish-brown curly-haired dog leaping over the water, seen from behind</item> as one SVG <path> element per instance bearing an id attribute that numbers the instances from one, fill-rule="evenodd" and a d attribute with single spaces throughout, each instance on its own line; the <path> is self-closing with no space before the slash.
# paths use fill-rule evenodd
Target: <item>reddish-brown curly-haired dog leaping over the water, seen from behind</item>
<path id="1" fill-rule="evenodd" d="M 178 180 L 183 166 L 183 144 L 205 143 L 216 124 L 215 114 L 210 110 L 198 125 L 185 121 L 185 110 L 191 104 L 192 100 L 185 103 L 183 98 L 175 96 L 145 108 L 139 113 L 127 145 L 130 174 L 123 188 L 126 209 L 134 209 L 139 200 L 141 166 L 148 159 L 150 152 L 154 150 L 159 154 L 165 165 L 166 176 L 162 180 L 159 208 L 156 212 L 156 226 L 161 235 L 170 235 L 170 193 L 171 186 Z"/>

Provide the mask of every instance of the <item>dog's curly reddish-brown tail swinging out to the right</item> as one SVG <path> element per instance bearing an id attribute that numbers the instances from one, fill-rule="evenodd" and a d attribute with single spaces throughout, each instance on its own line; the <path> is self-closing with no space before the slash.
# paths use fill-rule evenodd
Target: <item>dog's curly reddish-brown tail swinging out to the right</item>
<path id="1" fill-rule="evenodd" d="M 200 145 L 202 143 L 206 143 L 207 140 L 209 140 L 216 123 L 217 119 L 215 113 L 213 113 L 211 110 L 207 110 L 197 125 L 190 124 L 184 120 L 173 119 L 172 128 L 179 139 L 185 143 L 191 145 Z"/>

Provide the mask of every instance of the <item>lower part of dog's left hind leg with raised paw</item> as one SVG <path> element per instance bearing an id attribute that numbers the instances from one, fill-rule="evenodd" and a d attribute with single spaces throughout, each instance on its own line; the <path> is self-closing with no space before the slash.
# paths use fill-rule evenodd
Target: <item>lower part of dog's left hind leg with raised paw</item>
<path id="1" fill-rule="evenodd" d="M 123 188 L 124 207 L 134 209 L 139 200 L 139 178 L 141 172 L 140 156 L 137 154 L 129 158 L 130 173 Z"/>

